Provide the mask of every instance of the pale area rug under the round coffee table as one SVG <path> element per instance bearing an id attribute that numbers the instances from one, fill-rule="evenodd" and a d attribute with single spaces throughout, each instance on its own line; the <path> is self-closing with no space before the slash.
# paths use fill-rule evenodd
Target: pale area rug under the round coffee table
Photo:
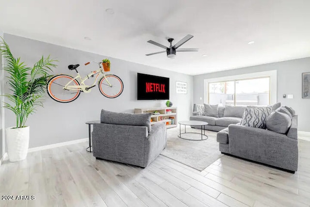
<path id="1" fill-rule="evenodd" d="M 181 127 L 184 132 L 184 127 Z M 201 129 L 186 127 L 186 132 L 201 133 Z M 168 143 L 161 155 L 181 162 L 199 171 L 204 170 L 210 164 L 222 157 L 218 150 L 217 132 L 205 131 L 207 140 L 189 141 L 178 137 L 179 127 L 167 129 Z M 200 134 L 182 134 L 182 137 L 201 139 Z"/>

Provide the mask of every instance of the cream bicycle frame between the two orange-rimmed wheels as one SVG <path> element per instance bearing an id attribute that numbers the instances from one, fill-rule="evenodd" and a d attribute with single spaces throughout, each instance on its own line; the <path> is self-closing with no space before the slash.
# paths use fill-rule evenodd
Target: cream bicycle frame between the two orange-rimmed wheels
<path id="1" fill-rule="evenodd" d="M 63 90 L 69 90 L 69 91 L 83 91 L 84 93 L 90 93 L 92 91 L 91 88 L 93 88 L 96 85 L 96 82 L 97 82 L 100 74 L 103 74 L 102 77 L 106 78 L 106 73 L 103 70 L 103 68 L 101 67 L 101 65 L 100 65 L 101 63 L 97 63 L 97 64 L 100 67 L 98 70 L 90 72 L 84 79 L 82 79 L 82 77 L 78 73 L 78 75 L 74 79 L 70 80 L 62 89 Z M 92 78 L 94 75 L 96 75 L 96 78 L 93 81 L 93 84 L 91 86 L 85 85 L 84 82 L 86 80 L 88 80 L 89 78 Z M 102 77 L 100 77 L 100 78 L 102 78 Z M 77 79 L 80 80 L 80 82 L 81 82 L 80 85 L 70 85 L 72 81 L 77 80 Z M 109 87 L 112 87 L 112 85 L 109 83 L 109 80 L 108 79 L 105 79 L 105 80 L 107 81 Z"/>

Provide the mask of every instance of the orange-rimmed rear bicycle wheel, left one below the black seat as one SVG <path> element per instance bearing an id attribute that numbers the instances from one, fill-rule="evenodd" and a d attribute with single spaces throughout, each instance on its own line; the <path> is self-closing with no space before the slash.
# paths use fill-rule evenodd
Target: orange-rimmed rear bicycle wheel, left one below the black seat
<path id="1" fill-rule="evenodd" d="M 71 80 L 72 82 L 70 83 L 70 86 L 79 85 L 78 80 L 75 80 L 71 76 L 68 75 L 54 76 L 53 78 L 48 80 L 47 94 L 55 101 L 61 103 L 68 103 L 74 101 L 75 99 L 78 98 L 80 91 L 63 89 L 63 87 Z"/>

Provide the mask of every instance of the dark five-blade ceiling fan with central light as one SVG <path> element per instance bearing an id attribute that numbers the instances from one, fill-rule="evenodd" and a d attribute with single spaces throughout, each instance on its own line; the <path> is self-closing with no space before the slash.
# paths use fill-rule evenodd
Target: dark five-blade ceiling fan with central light
<path id="1" fill-rule="evenodd" d="M 180 46 L 182 46 L 184 43 L 186 43 L 188 40 L 190 40 L 193 37 L 194 37 L 193 35 L 187 34 L 182 40 L 180 40 L 174 46 L 172 46 L 172 41 L 174 39 L 173 38 L 169 38 L 168 39 L 168 42 L 170 42 L 170 47 L 169 48 L 164 46 L 164 45 L 162 45 L 162 44 L 154 42 L 153 40 L 149 40 L 149 41 L 147 41 L 148 43 L 151 43 L 151 44 L 153 44 L 155 46 L 158 46 L 160 48 L 164 48 L 166 50 L 165 51 L 161 51 L 161 52 L 154 52 L 154 53 L 146 54 L 146 56 L 167 52 L 167 57 L 168 58 L 174 58 L 175 55 L 176 55 L 176 52 L 197 52 L 198 51 L 197 48 L 179 49 Z"/>

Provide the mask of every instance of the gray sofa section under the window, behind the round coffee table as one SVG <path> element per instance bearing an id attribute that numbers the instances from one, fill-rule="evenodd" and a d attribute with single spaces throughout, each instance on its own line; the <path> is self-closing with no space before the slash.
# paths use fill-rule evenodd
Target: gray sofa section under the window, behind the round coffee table
<path id="1" fill-rule="evenodd" d="M 244 110 L 245 110 L 244 106 L 218 107 L 218 117 L 213 117 L 203 115 L 204 105 L 194 104 L 193 114 L 192 116 L 189 117 L 189 120 L 208 122 L 208 125 L 205 126 L 206 130 L 220 131 L 224 128 L 227 128 L 231 124 L 237 124 L 241 122 Z M 194 128 L 201 128 L 201 127 L 194 127 Z"/>

